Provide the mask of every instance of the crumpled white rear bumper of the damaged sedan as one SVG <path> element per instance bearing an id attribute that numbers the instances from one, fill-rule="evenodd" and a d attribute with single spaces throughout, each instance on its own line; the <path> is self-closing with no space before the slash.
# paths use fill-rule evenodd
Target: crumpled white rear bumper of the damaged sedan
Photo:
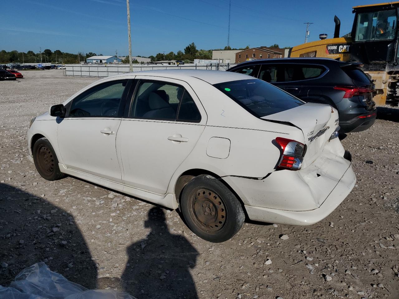
<path id="1" fill-rule="evenodd" d="M 310 225 L 328 216 L 356 183 L 350 154 L 338 142 L 299 171 L 274 171 L 263 179 L 223 179 L 242 199 L 251 220 Z"/>

